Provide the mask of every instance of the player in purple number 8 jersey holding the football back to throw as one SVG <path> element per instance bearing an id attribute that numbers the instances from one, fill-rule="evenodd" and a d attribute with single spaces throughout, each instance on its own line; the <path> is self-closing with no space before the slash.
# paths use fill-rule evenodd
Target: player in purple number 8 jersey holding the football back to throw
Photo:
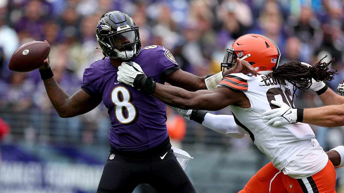
<path id="1" fill-rule="evenodd" d="M 144 87 L 142 92 L 117 81 L 117 71 L 123 63 L 138 63 L 150 77 L 146 82 L 168 82 L 190 91 L 207 89 L 206 76 L 181 70 L 163 46 L 141 50 L 139 28 L 126 13 L 102 15 L 96 37 L 104 58 L 85 69 L 82 87 L 72 96 L 57 84 L 49 59 L 39 69 L 49 99 L 61 117 L 87 113 L 101 101 L 108 109 L 110 152 L 97 193 L 129 193 L 141 183 L 164 193 L 196 192 L 171 150 L 166 105 L 147 93 L 152 88 Z M 238 62 L 224 75 L 240 71 L 257 73 L 247 62 Z"/>

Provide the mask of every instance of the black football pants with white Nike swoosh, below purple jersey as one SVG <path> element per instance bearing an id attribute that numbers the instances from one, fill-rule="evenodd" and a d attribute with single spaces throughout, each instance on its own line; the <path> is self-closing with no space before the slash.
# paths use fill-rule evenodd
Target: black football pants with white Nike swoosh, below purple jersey
<path id="1" fill-rule="evenodd" d="M 115 155 L 110 160 L 110 151 L 97 193 L 132 193 L 142 183 L 159 193 L 195 193 L 173 150 L 165 153 L 144 159 Z"/>

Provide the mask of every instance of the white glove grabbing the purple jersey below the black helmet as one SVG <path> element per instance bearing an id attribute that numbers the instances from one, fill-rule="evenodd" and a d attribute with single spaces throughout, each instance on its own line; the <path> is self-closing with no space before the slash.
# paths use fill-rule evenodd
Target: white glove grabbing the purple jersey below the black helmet
<path id="1" fill-rule="evenodd" d="M 134 82 L 136 76 L 140 74 L 144 75 L 140 65 L 133 61 L 122 62 L 122 64 L 118 67 L 117 80 L 133 87 L 132 83 Z"/>

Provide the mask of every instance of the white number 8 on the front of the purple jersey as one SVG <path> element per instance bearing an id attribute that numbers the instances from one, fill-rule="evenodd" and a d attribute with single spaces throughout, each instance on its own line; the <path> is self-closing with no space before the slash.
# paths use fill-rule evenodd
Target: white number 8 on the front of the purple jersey
<path id="1" fill-rule="evenodd" d="M 134 123 L 139 113 L 136 106 L 132 104 L 132 94 L 123 86 L 114 88 L 111 92 L 111 101 L 115 104 L 115 116 L 122 124 Z M 126 115 L 127 112 L 127 115 Z"/>

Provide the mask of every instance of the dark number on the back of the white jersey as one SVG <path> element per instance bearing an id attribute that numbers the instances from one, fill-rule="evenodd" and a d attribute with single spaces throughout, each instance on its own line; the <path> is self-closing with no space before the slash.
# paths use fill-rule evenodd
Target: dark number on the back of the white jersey
<path id="1" fill-rule="evenodd" d="M 293 107 L 293 103 L 291 101 L 291 92 L 290 89 L 287 89 L 284 91 L 281 88 L 271 88 L 266 92 L 266 98 L 269 101 L 270 107 L 271 109 L 276 109 L 279 108 L 279 106 L 276 106 L 274 104 L 271 103 L 272 100 L 278 100 L 278 95 L 280 95 L 280 99 L 282 99 L 282 101 L 284 103 L 286 103 L 288 106 Z"/>

